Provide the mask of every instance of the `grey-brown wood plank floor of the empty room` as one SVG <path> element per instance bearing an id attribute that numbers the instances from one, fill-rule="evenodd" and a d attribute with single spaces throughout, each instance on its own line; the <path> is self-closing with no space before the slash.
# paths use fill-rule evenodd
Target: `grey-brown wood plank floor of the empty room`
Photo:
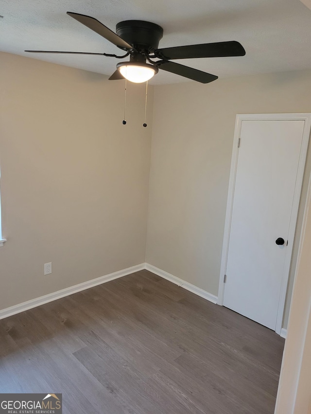
<path id="1" fill-rule="evenodd" d="M 284 340 L 142 270 L 0 321 L 0 392 L 70 414 L 272 414 Z"/>

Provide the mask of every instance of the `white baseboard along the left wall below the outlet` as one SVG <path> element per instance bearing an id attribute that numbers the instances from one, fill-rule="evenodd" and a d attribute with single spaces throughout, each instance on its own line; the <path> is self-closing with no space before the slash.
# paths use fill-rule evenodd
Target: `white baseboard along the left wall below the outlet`
<path id="1" fill-rule="evenodd" d="M 144 268 L 144 263 L 128 267 L 127 269 L 119 270 L 118 272 L 110 273 L 109 275 L 101 276 L 100 278 L 79 283 L 74 286 L 67 287 L 66 289 L 58 290 L 57 292 L 41 296 L 40 298 L 31 299 L 27 302 L 11 306 L 10 308 L 2 309 L 0 310 L 0 319 L 19 314 L 20 312 L 27 311 L 28 309 L 35 308 L 36 306 L 43 305 L 44 303 L 52 302 L 52 300 L 64 298 L 65 296 L 72 295 L 73 293 L 81 292 L 82 290 L 89 289 L 90 287 L 113 281 L 114 279 L 129 275 L 130 273 L 138 272 L 138 270 L 143 270 Z"/>

